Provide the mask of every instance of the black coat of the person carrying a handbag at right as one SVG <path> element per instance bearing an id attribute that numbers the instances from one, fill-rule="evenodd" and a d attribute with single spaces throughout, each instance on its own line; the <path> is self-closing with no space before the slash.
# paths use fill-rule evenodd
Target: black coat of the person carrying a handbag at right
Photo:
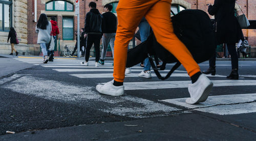
<path id="1" fill-rule="evenodd" d="M 215 0 L 208 7 L 210 15 L 215 16 L 217 43 L 236 43 L 242 38 L 242 29 L 234 16 L 236 0 Z"/>

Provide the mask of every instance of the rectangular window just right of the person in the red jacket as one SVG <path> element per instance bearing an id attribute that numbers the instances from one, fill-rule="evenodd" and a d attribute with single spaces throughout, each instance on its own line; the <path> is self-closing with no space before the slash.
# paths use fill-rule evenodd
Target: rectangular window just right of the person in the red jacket
<path id="1" fill-rule="evenodd" d="M 74 40 L 74 18 L 73 17 L 63 17 L 63 40 Z"/>

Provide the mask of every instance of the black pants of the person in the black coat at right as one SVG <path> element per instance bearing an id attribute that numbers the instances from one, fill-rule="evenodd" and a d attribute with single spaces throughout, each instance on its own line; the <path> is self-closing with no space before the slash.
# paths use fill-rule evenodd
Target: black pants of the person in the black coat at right
<path id="1" fill-rule="evenodd" d="M 236 43 L 227 44 L 227 50 L 231 56 L 232 69 L 238 69 L 238 53 L 236 50 Z M 211 67 L 216 65 L 216 53 L 209 59 L 209 65 Z"/>

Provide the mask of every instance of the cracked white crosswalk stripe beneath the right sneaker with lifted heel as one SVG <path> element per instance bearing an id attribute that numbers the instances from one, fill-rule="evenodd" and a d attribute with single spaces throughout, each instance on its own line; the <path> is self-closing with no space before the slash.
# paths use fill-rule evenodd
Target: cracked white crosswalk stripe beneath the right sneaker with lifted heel
<path id="1" fill-rule="evenodd" d="M 195 105 L 186 104 L 185 100 L 186 98 L 161 101 L 220 115 L 256 112 L 256 93 L 210 96 L 205 102 Z"/>

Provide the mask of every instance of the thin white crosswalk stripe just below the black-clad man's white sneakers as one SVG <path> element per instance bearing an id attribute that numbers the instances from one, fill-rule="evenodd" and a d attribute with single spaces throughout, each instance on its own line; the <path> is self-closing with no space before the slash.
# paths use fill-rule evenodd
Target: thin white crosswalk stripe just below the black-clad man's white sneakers
<path id="1" fill-rule="evenodd" d="M 113 69 L 53 69 L 57 72 L 113 72 Z M 169 72 L 170 70 L 161 70 L 160 72 Z M 176 72 L 186 72 L 183 70 L 175 70 Z M 141 69 L 132 69 L 132 72 L 141 72 Z"/>

